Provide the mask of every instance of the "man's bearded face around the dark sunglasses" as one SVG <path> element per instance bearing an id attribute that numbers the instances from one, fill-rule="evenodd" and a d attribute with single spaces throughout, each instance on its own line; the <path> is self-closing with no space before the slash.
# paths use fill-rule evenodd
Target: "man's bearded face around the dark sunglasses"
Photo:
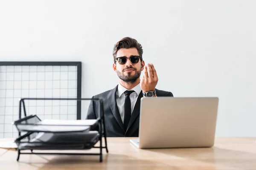
<path id="1" fill-rule="evenodd" d="M 131 56 L 139 56 L 136 48 L 120 48 L 116 53 L 116 58 L 128 57 L 128 59 L 123 65 L 119 64 L 117 60 L 113 64 L 113 70 L 116 71 L 117 76 L 127 83 L 135 82 L 140 77 L 140 73 L 145 65 L 144 61 L 141 62 L 141 60 L 137 64 L 133 64 L 129 59 Z"/>

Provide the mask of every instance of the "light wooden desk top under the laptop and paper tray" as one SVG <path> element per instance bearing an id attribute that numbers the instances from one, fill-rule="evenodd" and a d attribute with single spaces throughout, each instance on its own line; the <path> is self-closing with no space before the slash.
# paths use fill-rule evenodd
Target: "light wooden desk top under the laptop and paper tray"
<path id="1" fill-rule="evenodd" d="M 0 149 L 1 170 L 256 170 L 255 138 L 216 138 L 212 148 L 141 150 L 131 138 L 108 138 L 109 153 L 99 156 L 20 155 Z M 6 139 L 0 139 L 0 142 Z M 98 151 L 98 149 L 97 149 Z"/>

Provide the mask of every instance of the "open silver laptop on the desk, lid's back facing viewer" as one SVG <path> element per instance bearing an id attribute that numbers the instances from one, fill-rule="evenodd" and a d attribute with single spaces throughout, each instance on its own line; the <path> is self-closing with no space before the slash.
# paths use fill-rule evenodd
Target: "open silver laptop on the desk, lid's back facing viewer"
<path id="1" fill-rule="evenodd" d="M 218 97 L 142 98 L 139 138 L 130 142 L 141 149 L 212 147 Z"/>

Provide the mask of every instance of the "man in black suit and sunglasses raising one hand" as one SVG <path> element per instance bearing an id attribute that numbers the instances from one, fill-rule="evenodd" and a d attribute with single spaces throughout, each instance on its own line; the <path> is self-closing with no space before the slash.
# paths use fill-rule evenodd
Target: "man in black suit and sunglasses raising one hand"
<path id="1" fill-rule="evenodd" d="M 112 90 L 93 96 L 103 100 L 108 137 L 138 137 L 140 99 L 173 96 L 171 92 L 155 88 L 157 72 L 153 64 L 145 65 L 142 54 L 142 46 L 135 39 L 125 37 L 117 42 L 113 48 L 113 70 L 119 77 L 119 84 Z M 140 79 L 143 70 L 144 75 Z M 99 102 L 90 102 L 87 119 L 97 119 L 98 107 Z"/>

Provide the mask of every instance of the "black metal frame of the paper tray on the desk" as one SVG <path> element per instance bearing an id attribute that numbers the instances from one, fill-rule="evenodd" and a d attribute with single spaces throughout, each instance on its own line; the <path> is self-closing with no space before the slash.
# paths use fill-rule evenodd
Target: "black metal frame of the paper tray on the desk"
<path id="1" fill-rule="evenodd" d="M 31 153 L 22 153 L 20 152 L 20 150 L 18 149 L 17 147 L 17 161 L 19 161 L 19 158 L 20 158 L 20 154 L 57 154 L 57 155 L 99 155 L 99 161 L 102 162 L 102 148 L 106 148 L 106 152 L 108 153 L 108 146 L 107 146 L 107 138 L 106 138 L 106 128 L 105 128 L 105 116 L 104 116 L 104 109 L 103 109 L 103 100 L 102 99 L 97 99 L 97 98 L 94 98 L 94 99 L 89 99 L 89 98 L 23 98 L 23 99 L 20 99 L 20 102 L 19 102 L 19 120 L 16 121 L 16 122 L 20 122 L 20 119 L 21 119 L 21 114 L 22 114 L 22 105 L 23 105 L 23 112 L 24 112 L 24 116 L 26 117 L 26 108 L 25 108 L 25 100 L 77 100 L 77 101 L 80 101 L 81 100 L 93 100 L 94 101 L 99 101 L 100 102 L 100 105 L 99 105 L 99 118 L 97 119 L 98 120 L 98 124 L 99 124 L 99 141 L 100 141 L 100 146 L 99 147 L 95 147 L 93 146 L 93 148 L 99 148 L 100 149 L 100 152 L 99 153 L 34 153 L 33 150 L 31 150 Z M 36 116 L 36 115 L 35 115 Z M 24 118 L 23 118 L 24 119 Z M 103 126 L 103 130 L 102 130 L 102 126 Z M 103 133 L 102 133 L 103 131 Z M 29 138 L 29 136 L 35 132 L 27 132 L 25 135 L 23 136 L 20 136 L 20 133 L 19 132 L 19 137 L 15 140 L 15 142 L 19 142 L 19 143 L 22 143 L 20 142 L 21 139 L 24 139 L 26 137 Z M 104 137 L 105 139 L 105 147 L 102 146 L 102 136 Z"/>

